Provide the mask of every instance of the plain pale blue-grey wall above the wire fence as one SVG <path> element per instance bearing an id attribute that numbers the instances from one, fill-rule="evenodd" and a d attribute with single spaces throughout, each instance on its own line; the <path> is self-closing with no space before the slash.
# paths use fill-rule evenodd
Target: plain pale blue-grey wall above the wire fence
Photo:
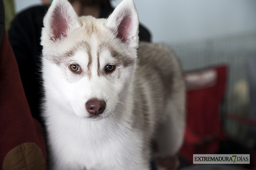
<path id="1" fill-rule="evenodd" d="M 40 0 L 15 0 L 20 11 Z M 114 0 L 116 6 L 121 0 Z M 134 0 L 153 42 L 204 39 L 256 29 L 255 0 Z"/>

